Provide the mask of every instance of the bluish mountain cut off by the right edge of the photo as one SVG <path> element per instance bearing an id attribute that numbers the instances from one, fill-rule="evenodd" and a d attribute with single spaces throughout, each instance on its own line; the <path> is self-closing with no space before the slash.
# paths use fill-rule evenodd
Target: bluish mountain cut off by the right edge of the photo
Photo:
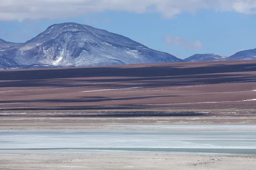
<path id="1" fill-rule="evenodd" d="M 235 54 L 227 57 L 225 60 L 236 60 L 236 59 L 256 59 L 256 48 L 251 50 L 238 51 Z"/>

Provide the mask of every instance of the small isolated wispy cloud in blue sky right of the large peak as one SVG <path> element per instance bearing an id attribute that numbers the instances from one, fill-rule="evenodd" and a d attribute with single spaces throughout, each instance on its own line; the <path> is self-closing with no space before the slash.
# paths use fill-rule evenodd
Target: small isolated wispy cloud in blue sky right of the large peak
<path id="1" fill-rule="evenodd" d="M 203 45 L 198 40 L 186 40 L 179 36 L 167 35 L 165 42 L 168 45 L 174 45 L 178 47 L 183 47 L 186 49 L 195 49 L 200 50 L 203 48 Z"/>

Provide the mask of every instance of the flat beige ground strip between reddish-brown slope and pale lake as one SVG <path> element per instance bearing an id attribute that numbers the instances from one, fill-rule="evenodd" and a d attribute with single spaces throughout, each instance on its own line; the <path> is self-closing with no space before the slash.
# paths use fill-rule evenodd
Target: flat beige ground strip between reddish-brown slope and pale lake
<path id="1" fill-rule="evenodd" d="M 148 115 L 148 116 L 145 116 Z M 139 125 L 125 127 L 120 125 Z M 26 113 L 0 116 L 0 130 L 26 129 L 165 129 L 140 125 L 256 125 L 256 114 L 248 113 Z M 176 127 L 175 127 L 176 128 Z M 170 128 L 168 128 L 170 129 Z"/>

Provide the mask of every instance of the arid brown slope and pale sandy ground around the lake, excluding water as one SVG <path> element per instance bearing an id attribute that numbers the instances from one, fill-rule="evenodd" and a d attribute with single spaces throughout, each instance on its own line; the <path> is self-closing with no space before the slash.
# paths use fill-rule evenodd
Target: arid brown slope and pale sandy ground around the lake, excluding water
<path id="1" fill-rule="evenodd" d="M 255 108 L 256 60 L 0 71 L 0 130 L 256 125 Z M 0 169 L 253 170 L 256 158 L 140 154 L 3 153 Z"/>

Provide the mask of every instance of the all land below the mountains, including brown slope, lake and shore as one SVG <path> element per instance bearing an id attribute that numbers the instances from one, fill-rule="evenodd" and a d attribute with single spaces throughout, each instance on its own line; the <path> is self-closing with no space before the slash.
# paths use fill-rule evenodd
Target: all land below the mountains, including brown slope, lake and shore
<path id="1" fill-rule="evenodd" d="M 255 60 L 0 71 L 0 170 L 253 170 L 255 106 Z"/>

